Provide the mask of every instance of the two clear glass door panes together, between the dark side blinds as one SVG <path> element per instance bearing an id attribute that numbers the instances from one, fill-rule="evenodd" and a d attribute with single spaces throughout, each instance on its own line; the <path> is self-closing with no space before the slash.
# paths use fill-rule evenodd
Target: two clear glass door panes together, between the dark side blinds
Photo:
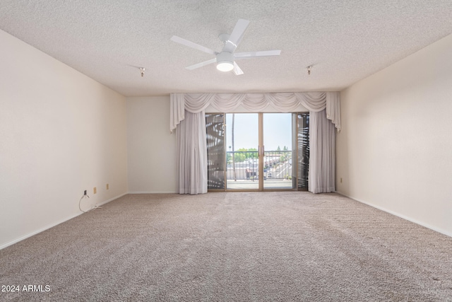
<path id="1" fill-rule="evenodd" d="M 226 189 L 295 189 L 294 126 L 291 113 L 226 114 Z"/>

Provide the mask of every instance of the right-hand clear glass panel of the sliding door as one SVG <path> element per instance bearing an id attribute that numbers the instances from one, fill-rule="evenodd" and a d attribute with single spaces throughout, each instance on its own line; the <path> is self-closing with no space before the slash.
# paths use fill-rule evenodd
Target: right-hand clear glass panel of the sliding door
<path id="1" fill-rule="evenodd" d="M 292 113 L 263 113 L 263 189 L 292 190 L 297 184 Z M 296 163 L 293 163 L 296 165 Z"/>

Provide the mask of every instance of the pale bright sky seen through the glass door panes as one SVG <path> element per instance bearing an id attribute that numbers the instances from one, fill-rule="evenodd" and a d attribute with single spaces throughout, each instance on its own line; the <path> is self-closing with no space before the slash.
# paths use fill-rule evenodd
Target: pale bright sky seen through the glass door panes
<path id="1" fill-rule="evenodd" d="M 280 146 L 292 148 L 292 114 L 263 114 L 263 145 L 266 151 L 275 151 Z M 226 114 L 226 146 L 232 146 L 232 113 Z M 234 149 L 258 147 L 258 114 L 235 113 Z M 232 150 L 232 149 L 231 149 Z"/>

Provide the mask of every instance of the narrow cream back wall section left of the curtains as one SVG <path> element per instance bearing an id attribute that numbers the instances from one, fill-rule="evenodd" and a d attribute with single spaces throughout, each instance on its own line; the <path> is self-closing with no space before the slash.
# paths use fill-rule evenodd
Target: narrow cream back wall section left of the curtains
<path id="1" fill-rule="evenodd" d="M 169 96 L 127 98 L 129 192 L 175 193 L 177 134 L 169 132 Z"/>

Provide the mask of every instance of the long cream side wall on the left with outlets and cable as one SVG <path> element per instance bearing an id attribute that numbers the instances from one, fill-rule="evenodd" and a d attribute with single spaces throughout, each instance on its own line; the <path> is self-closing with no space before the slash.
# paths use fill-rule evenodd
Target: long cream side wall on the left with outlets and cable
<path id="1" fill-rule="evenodd" d="M 0 248 L 127 192 L 125 98 L 0 30 Z M 106 184 L 109 190 L 106 190 Z M 97 187 L 97 194 L 93 194 Z"/>

